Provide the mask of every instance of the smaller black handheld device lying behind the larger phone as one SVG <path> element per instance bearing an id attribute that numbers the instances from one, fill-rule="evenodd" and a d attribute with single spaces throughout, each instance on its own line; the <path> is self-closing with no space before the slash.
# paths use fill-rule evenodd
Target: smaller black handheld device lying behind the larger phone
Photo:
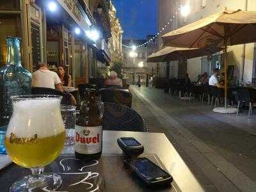
<path id="1" fill-rule="evenodd" d="M 127 156 L 140 156 L 144 147 L 134 138 L 118 138 L 117 143 Z"/>

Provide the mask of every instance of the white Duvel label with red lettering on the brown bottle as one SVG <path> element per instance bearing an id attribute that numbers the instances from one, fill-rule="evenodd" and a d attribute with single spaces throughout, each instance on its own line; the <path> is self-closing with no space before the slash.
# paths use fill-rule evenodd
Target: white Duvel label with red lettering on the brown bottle
<path id="1" fill-rule="evenodd" d="M 79 154 L 97 154 L 102 150 L 102 125 L 81 127 L 76 125 L 75 151 Z"/>

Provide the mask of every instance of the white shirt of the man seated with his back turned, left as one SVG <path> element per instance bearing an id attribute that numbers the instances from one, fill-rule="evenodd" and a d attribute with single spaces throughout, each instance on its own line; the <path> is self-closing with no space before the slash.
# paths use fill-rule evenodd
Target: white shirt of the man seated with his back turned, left
<path id="1" fill-rule="evenodd" d="M 61 83 L 60 77 L 56 72 L 47 69 L 39 69 L 33 72 L 32 86 L 55 89 L 55 84 Z"/>

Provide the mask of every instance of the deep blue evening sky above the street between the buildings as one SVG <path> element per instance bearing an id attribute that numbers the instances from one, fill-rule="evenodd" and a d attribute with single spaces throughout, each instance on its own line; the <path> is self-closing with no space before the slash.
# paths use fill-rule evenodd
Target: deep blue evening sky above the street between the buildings
<path id="1" fill-rule="evenodd" d="M 157 1 L 113 0 L 124 30 L 124 39 L 143 39 L 157 33 Z"/>

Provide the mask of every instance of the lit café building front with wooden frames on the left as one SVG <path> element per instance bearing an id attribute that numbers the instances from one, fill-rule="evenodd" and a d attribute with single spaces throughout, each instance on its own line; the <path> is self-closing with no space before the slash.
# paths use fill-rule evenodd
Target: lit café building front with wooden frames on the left
<path id="1" fill-rule="evenodd" d="M 51 3 L 50 3 L 51 2 Z M 99 31 L 98 40 L 86 33 Z M 6 63 L 6 36 L 21 38 L 22 65 L 30 72 L 40 62 L 50 70 L 64 65 L 73 85 L 97 77 L 97 62 L 103 60 L 102 41 L 108 38 L 110 21 L 106 1 L 92 0 L 3 0 L 0 3 L 0 65 Z M 101 46 L 100 46 L 101 45 Z M 101 51 L 102 52 L 102 51 Z"/>

